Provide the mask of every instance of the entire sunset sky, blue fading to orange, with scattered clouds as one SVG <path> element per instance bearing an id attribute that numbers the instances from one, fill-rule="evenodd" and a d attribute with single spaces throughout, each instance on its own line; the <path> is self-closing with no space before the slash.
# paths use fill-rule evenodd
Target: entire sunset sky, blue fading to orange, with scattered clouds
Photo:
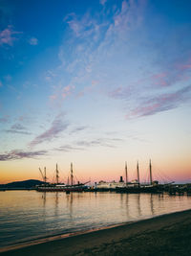
<path id="1" fill-rule="evenodd" d="M 191 182 L 189 0 L 0 0 L 0 183 Z"/>

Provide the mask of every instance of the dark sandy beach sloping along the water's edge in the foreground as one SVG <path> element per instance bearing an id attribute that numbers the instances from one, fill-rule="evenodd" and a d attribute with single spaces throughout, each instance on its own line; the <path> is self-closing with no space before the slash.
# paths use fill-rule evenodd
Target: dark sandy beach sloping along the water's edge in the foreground
<path id="1" fill-rule="evenodd" d="M 22 247 L 1 255 L 191 255 L 191 210 Z"/>

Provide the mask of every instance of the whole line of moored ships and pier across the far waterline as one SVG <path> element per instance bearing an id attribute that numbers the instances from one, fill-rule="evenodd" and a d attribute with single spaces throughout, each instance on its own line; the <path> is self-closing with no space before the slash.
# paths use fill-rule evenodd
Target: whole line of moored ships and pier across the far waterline
<path id="1" fill-rule="evenodd" d="M 44 173 L 39 168 L 40 174 L 42 176 L 42 184 L 37 185 L 35 189 L 38 192 L 116 192 L 116 193 L 152 193 L 152 194 L 163 194 L 167 193 L 170 196 L 181 196 L 181 195 L 191 195 L 191 184 L 174 184 L 174 181 L 169 181 L 166 183 L 159 183 L 159 180 L 153 180 L 152 164 L 149 161 L 149 182 L 141 183 L 139 178 L 139 166 L 137 162 L 137 178 L 133 181 L 128 180 L 127 172 L 127 162 L 125 162 L 125 181 L 123 176 L 120 176 L 118 182 L 115 180 L 112 182 L 99 181 L 95 182 L 93 186 L 89 185 L 90 181 L 81 183 L 77 181 L 74 183 L 74 170 L 73 163 L 71 163 L 71 173 L 70 178 L 68 176 L 67 184 L 59 182 L 59 171 L 56 164 L 55 176 L 56 182 L 47 182 L 46 167 L 44 168 Z"/>

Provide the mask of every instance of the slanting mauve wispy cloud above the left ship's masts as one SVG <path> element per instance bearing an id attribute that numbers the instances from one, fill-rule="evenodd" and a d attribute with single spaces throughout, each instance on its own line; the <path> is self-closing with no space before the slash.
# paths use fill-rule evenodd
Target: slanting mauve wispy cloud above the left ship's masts
<path id="1" fill-rule="evenodd" d="M 41 144 L 46 141 L 51 141 L 56 138 L 63 130 L 69 127 L 69 124 L 63 120 L 64 114 L 59 114 L 52 122 L 51 128 L 45 130 L 40 135 L 36 136 L 30 143 L 31 147 Z"/>

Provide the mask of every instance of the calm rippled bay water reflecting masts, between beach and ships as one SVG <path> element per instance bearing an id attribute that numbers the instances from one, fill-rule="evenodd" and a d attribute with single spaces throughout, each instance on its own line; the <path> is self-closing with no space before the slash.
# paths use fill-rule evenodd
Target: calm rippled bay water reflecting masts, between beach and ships
<path id="1" fill-rule="evenodd" d="M 0 192 L 0 247 L 191 208 L 191 197 Z"/>

